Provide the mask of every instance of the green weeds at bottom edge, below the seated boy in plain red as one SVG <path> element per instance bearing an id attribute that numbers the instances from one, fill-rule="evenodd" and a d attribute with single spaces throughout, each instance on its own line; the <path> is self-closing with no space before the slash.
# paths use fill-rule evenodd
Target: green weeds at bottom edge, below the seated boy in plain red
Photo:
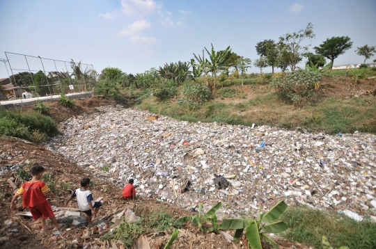
<path id="1" fill-rule="evenodd" d="M 132 222 L 128 222 L 126 218 L 122 218 L 120 225 L 113 229 L 112 232 L 107 232 L 100 237 L 100 240 L 123 241 L 125 248 L 132 248 L 134 241 L 145 232 L 143 227 L 143 218 Z"/>

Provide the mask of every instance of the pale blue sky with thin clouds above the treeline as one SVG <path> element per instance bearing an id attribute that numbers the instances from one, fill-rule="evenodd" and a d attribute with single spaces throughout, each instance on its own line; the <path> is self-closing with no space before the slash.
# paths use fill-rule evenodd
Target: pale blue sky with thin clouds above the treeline
<path id="1" fill-rule="evenodd" d="M 0 14 L 0 58 L 3 51 L 73 58 L 98 72 L 110 66 L 135 74 L 189 61 L 210 43 L 255 60 L 257 42 L 278 40 L 308 22 L 316 38 L 303 45 L 314 47 L 341 35 L 354 42 L 335 65 L 362 63 L 355 49 L 376 46 L 375 0 L 0 0 Z"/>

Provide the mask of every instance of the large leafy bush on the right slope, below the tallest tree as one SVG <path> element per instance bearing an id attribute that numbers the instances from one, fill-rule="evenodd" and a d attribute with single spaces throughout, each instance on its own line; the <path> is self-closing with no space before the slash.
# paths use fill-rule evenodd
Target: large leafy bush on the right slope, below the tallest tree
<path id="1" fill-rule="evenodd" d="M 289 74 L 274 74 L 271 86 L 279 88 L 283 97 L 293 104 L 301 105 L 313 96 L 315 86 L 321 81 L 318 71 L 295 70 Z"/>

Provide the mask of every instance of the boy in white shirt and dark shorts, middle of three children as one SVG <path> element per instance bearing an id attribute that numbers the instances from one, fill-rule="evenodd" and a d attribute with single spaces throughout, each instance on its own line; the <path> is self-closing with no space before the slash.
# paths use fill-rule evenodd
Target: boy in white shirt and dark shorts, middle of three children
<path id="1" fill-rule="evenodd" d="M 81 179 L 81 188 L 77 188 L 76 191 L 72 193 L 72 196 L 70 196 L 70 198 L 65 203 L 65 207 L 68 206 L 70 200 L 77 197 L 77 204 L 79 205 L 79 210 L 83 211 L 85 214 L 88 215 L 88 225 L 91 225 L 91 216 L 93 215 L 93 219 L 95 219 L 98 210 L 102 206 L 102 202 L 93 201 L 93 195 L 91 195 L 91 191 L 88 190 L 89 186 L 90 179 Z"/>

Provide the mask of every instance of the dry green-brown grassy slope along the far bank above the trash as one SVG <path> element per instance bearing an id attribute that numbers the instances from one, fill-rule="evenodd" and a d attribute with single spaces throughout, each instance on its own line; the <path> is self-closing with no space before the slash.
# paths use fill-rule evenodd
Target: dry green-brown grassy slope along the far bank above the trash
<path id="1" fill-rule="evenodd" d="M 322 98 L 299 109 L 281 99 L 278 93 L 267 93 L 237 104 L 207 102 L 195 110 L 148 97 L 139 104 L 139 108 L 189 122 L 222 122 L 249 126 L 253 123 L 267 124 L 286 129 L 301 127 L 326 134 L 354 131 L 376 133 L 376 99 L 372 96 L 351 99 Z"/>

